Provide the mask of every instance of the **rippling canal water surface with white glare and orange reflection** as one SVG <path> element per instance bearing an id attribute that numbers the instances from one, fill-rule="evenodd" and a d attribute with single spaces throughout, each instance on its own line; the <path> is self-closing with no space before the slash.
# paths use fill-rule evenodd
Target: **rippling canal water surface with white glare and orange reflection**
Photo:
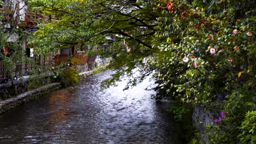
<path id="1" fill-rule="evenodd" d="M 100 91 L 104 71 L 0 115 L 0 143 L 180 143 L 169 103 L 150 99 L 149 81 Z M 152 83 L 152 82 L 151 82 Z"/>

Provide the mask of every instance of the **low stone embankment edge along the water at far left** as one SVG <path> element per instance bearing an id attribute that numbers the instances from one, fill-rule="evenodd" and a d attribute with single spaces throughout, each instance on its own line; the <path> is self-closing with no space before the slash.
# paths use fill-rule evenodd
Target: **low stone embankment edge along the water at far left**
<path id="1" fill-rule="evenodd" d="M 14 109 L 22 104 L 28 103 L 28 101 L 37 99 L 45 94 L 56 91 L 60 88 L 61 83 L 50 83 L 43 87 L 33 89 L 32 91 L 28 91 L 26 93 L 22 93 L 17 97 L 13 97 L 7 100 L 0 101 L 0 115 L 4 112 L 9 111 L 10 109 Z"/>

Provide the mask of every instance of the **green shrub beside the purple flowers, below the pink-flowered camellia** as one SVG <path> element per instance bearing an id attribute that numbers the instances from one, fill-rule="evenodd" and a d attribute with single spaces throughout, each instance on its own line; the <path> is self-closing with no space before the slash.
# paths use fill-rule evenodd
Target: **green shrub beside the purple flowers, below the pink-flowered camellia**
<path id="1" fill-rule="evenodd" d="M 255 110 L 255 96 L 252 91 L 237 89 L 232 94 L 226 96 L 223 101 L 223 111 L 226 116 L 218 125 L 209 125 L 208 140 L 211 143 L 236 143 L 240 141 L 238 136 L 241 135 L 241 124 L 246 111 Z"/>

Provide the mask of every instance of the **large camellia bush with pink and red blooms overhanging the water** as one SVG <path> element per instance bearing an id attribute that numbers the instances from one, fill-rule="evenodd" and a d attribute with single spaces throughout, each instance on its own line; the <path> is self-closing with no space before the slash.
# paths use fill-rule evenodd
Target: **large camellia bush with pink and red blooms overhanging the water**
<path id="1" fill-rule="evenodd" d="M 162 1 L 161 1 L 162 2 Z M 216 113 L 210 143 L 237 143 L 248 111 L 255 110 L 255 2 L 166 1 L 159 9 L 156 77 L 173 99 Z M 254 117 L 255 119 L 255 117 Z M 251 128 L 251 129 L 250 129 Z M 239 135 L 239 136 L 238 136 Z M 246 137 L 255 141 L 255 136 Z"/>

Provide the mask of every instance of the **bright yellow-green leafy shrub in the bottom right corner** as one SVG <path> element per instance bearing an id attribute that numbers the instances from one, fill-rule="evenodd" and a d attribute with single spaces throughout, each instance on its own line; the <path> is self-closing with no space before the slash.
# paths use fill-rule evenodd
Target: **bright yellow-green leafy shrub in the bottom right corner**
<path id="1" fill-rule="evenodd" d="M 241 143 L 256 143 L 256 111 L 248 111 L 246 113 L 245 121 L 240 127 L 241 134 L 238 135 Z"/>

